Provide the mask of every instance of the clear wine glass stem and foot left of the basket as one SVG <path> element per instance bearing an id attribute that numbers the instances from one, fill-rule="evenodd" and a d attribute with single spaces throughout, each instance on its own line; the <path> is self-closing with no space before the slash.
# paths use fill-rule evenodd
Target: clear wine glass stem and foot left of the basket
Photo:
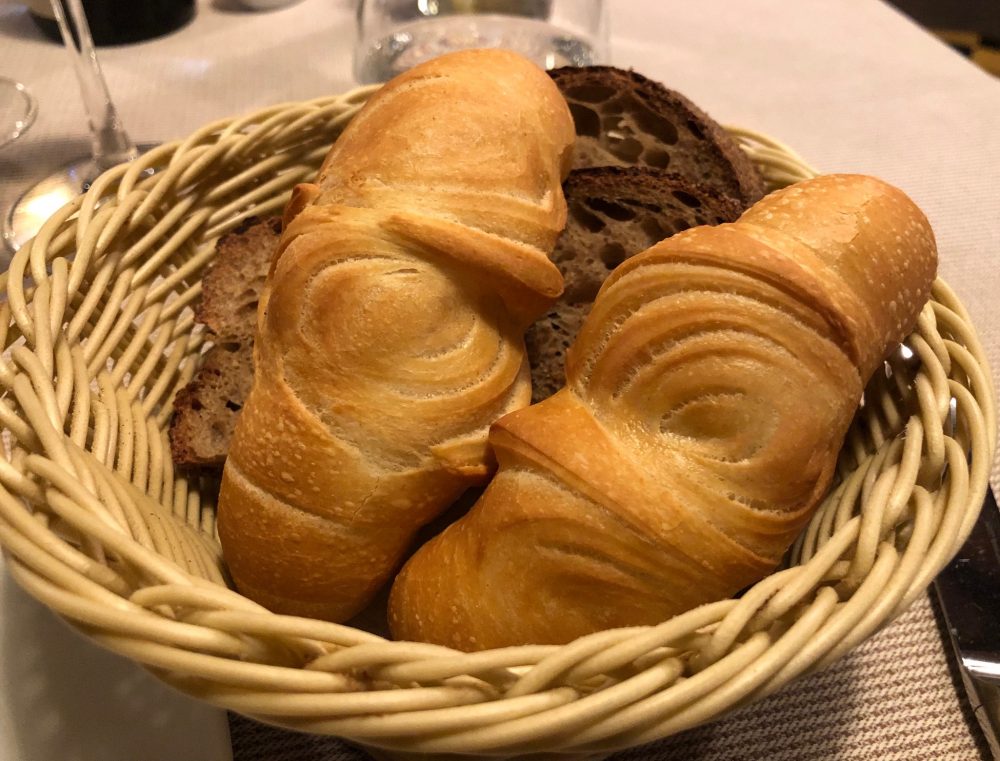
<path id="1" fill-rule="evenodd" d="M 2 224 L 4 243 L 11 251 L 33 238 L 45 220 L 85 192 L 101 172 L 139 155 L 108 92 L 81 0 L 52 0 L 52 11 L 80 86 L 90 127 L 91 153 L 45 177 L 14 202 Z"/>

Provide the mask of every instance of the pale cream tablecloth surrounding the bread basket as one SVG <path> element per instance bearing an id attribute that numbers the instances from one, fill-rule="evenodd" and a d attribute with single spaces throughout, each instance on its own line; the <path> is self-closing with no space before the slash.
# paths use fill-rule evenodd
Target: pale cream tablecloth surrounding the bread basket
<path id="1" fill-rule="evenodd" d="M 942 274 L 1000 365 L 1000 82 L 876 2 L 608 2 L 615 65 L 685 93 L 724 123 L 784 140 L 821 170 L 880 175 L 909 193 L 937 233 Z M 163 141 L 258 106 L 350 88 L 353 18 L 348 0 L 302 0 L 267 13 L 203 0 L 184 29 L 100 54 L 133 138 Z M 0 149 L 5 209 L 31 178 L 89 143 L 65 52 L 17 4 L 0 4 L 0 75 L 26 83 L 40 104 L 31 131 Z M 0 585 L 0 761 L 228 755 L 224 714 L 99 652 L 11 587 L 9 578 Z M 936 668 L 946 684 L 946 669 Z M 29 729 L 24 705 L 46 709 L 48 734 Z M 81 708 L 88 705 L 106 710 Z M 131 710 L 136 705 L 162 710 Z M 879 714 L 889 728 L 891 708 Z M 85 742 L 105 730 L 129 739 Z M 874 748 L 841 752 L 866 730 L 848 721 L 838 731 L 833 751 L 782 757 L 889 757 Z M 53 736 L 66 741 L 58 747 L 76 741 L 75 755 L 55 752 Z M 971 742 L 933 757 L 970 758 Z M 144 747 L 164 755 L 137 754 Z"/>

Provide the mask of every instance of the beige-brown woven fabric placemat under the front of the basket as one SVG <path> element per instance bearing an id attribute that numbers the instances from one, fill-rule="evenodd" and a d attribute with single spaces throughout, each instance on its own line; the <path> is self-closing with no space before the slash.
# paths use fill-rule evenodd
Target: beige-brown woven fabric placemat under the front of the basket
<path id="1" fill-rule="evenodd" d="M 825 671 L 611 761 L 988 761 L 928 595 Z M 340 740 L 230 714 L 233 761 L 366 761 Z"/>

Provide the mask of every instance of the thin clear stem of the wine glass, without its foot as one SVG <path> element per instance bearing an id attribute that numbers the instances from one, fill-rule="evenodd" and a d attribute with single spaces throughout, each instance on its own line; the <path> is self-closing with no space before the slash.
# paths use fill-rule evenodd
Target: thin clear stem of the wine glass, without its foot
<path id="1" fill-rule="evenodd" d="M 68 18 L 65 10 L 69 11 Z M 52 0 L 52 12 L 80 84 L 80 94 L 90 124 L 94 163 L 103 171 L 115 164 L 132 161 L 138 157 L 139 152 L 125 132 L 118 111 L 111 101 L 108 83 L 97 60 L 97 51 L 94 50 L 94 40 L 90 36 L 83 3 L 81 0 Z"/>

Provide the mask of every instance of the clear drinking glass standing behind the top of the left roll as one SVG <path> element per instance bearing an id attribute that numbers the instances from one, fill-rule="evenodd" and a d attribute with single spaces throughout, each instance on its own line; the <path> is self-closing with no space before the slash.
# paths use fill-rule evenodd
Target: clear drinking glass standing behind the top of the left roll
<path id="1" fill-rule="evenodd" d="M 452 50 L 507 48 L 539 66 L 589 66 L 608 53 L 602 0 L 361 0 L 359 82 L 384 82 Z"/>

